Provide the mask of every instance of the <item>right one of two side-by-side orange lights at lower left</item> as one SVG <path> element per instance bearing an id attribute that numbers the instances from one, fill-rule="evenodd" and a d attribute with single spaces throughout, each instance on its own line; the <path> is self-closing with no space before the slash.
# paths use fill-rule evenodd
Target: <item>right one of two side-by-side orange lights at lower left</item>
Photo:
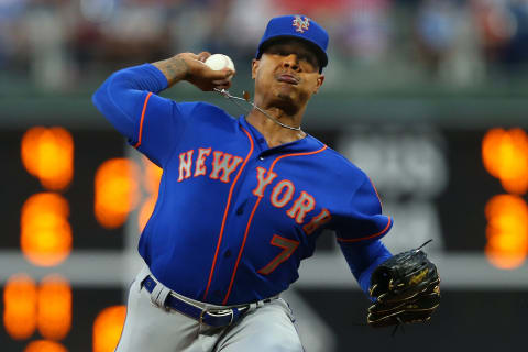
<path id="1" fill-rule="evenodd" d="M 44 338 L 55 341 L 64 339 L 72 328 L 72 288 L 59 275 L 41 282 L 37 326 Z"/>

